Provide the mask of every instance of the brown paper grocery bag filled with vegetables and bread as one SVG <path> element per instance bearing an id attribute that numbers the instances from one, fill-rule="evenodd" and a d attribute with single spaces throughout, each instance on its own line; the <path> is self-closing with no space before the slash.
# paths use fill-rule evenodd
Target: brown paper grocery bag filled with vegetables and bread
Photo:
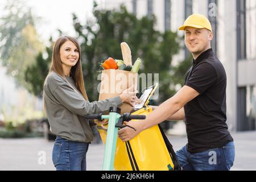
<path id="1" fill-rule="evenodd" d="M 134 85 L 137 89 L 138 73 L 123 71 L 119 69 L 105 69 L 101 73 L 101 88 L 98 100 L 105 100 L 118 96 L 123 90 Z M 130 113 L 133 107 L 123 103 L 119 106 L 121 114 Z"/>

